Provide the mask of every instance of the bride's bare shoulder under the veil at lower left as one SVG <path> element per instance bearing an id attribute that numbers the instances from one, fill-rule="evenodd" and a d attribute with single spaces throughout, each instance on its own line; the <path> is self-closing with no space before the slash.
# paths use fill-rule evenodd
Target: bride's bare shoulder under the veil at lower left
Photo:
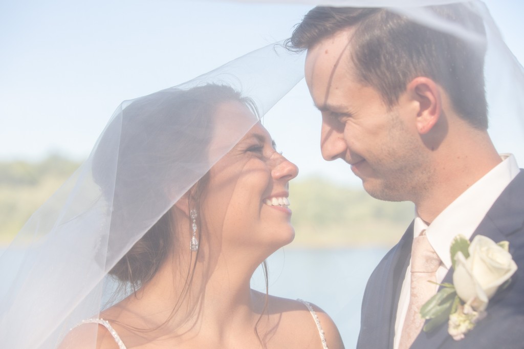
<path id="1" fill-rule="evenodd" d="M 99 323 L 82 323 L 65 336 L 58 349 L 119 349 L 113 336 Z"/>

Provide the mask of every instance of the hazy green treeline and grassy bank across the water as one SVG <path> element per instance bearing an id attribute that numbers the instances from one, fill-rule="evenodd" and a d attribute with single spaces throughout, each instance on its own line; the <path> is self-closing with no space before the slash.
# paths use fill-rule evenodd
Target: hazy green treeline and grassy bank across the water
<path id="1" fill-rule="evenodd" d="M 50 156 L 40 162 L 0 162 L 0 244 L 20 230 L 29 216 L 80 165 Z M 298 178 L 290 183 L 292 246 L 391 246 L 413 217 L 411 203 L 373 199 L 362 188 L 324 178 Z"/>

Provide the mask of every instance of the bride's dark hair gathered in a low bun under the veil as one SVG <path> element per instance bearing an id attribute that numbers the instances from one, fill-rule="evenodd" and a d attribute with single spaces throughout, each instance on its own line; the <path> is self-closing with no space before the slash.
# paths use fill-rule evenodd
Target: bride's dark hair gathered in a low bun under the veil
<path id="1" fill-rule="evenodd" d="M 227 101 L 244 103 L 255 111 L 254 103 L 230 86 L 206 84 L 189 90 L 168 89 L 140 97 L 112 119 L 107 127 L 120 128 L 120 138 L 102 138 L 93 160 L 95 181 L 110 199 L 108 201 L 111 202 L 113 194 L 112 227 L 117 226 L 117 223 L 122 227 L 136 224 L 132 211 L 137 206 L 128 203 L 147 202 L 145 199 L 151 200 L 151 195 L 155 194 L 150 191 L 140 192 L 137 188 L 144 186 L 135 184 L 142 181 L 154 182 L 158 176 L 162 177 L 161 182 L 166 182 L 163 177 L 169 176 L 165 170 L 168 166 L 166 164 L 172 163 L 184 171 L 198 171 L 199 168 L 194 168 L 195 163 L 209 162 L 209 143 L 215 123 L 220 122 L 212 115 L 218 104 Z M 117 146 L 115 142 L 118 142 Z M 107 154 L 104 149 L 118 149 L 118 154 Z M 107 157 L 111 156 L 117 156 L 116 169 L 103 166 L 109 162 L 105 161 Z M 155 167 L 159 170 L 155 171 Z M 150 170 L 142 171 L 143 168 Z M 192 197 L 197 199 L 195 204 L 198 204 L 206 179 L 207 175 L 204 174 L 193 186 Z M 179 185 L 177 178 L 168 182 L 173 186 Z M 160 190 L 169 191 L 169 188 Z M 140 209 L 147 210 L 147 207 Z M 130 247 L 108 274 L 128 283 L 134 290 L 151 280 L 173 246 L 175 232 L 169 212 L 168 210 L 158 217 L 158 221 Z M 112 241 L 116 243 L 116 239 L 125 238 L 125 229 L 119 232 L 112 229 L 108 244 L 111 246 Z"/>

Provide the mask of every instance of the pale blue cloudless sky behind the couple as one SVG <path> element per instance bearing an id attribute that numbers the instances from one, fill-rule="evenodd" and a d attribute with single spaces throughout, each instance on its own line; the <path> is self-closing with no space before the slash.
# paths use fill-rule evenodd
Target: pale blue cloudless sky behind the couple
<path id="1" fill-rule="evenodd" d="M 523 62 L 524 5 L 508 0 L 487 5 Z M 50 152 L 85 158 L 121 101 L 177 85 L 287 38 L 311 7 L 221 1 L 0 2 L 0 160 L 39 159 Z M 267 118 L 265 124 L 302 176 L 316 172 L 359 182 L 341 161 L 321 159 L 320 118 L 303 83 L 272 112 L 287 115 Z M 499 150 L 521 151 L 522 124 L 507 126 L 494 126 Z M 524 157 L 519 159 L 524 166 Z"/>

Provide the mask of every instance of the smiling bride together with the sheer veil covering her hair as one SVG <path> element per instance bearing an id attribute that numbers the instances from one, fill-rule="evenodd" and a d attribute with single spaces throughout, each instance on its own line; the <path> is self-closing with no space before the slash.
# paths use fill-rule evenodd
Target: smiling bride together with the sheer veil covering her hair
<path id="1" fill-rule="evenodd" d="M 303 74 L 282 52 L 117 108 L 0 259 L 2 346 L 343 347 L 321 309 L 268 295 L 298 172 L 260 123 Z M 260 264 L 266 292 L 250 288 Z"/>

